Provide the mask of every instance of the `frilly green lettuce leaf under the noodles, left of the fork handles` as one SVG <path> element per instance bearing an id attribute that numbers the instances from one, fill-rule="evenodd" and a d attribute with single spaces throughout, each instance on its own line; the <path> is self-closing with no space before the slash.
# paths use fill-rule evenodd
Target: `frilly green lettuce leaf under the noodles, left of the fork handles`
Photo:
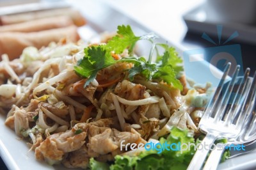
<path id="1" fill-rule="evenodd" d="M 182 144 L 194 143 L 193 135 L 189 135 L 188 130 L 180 130 L 173 127 L 170 135 L 166 139 L 161 138 L 160 143 L 164 144 Z M 195 148 L 191 146 L 189 150 L 163 150 L 157 153 L 157 150 L 141 152 L 137 157 L 127 155 L 115 157 L 115 163 L 110 166 L 111 170 L 118 169 L 186 169 L 195 154 Z"/>

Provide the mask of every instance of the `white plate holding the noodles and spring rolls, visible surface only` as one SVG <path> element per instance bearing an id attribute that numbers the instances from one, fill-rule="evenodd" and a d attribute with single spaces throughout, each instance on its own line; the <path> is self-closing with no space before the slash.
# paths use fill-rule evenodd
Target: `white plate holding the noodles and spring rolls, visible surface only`
<path id="1" fill-rule="evenodd" d="M 120 24 L 129 24 L 134 32 L 138 35 L 143 33 L 150 33 L 150 29 L 147 27 L 143 27 L 134 20 L 129 19 L 124 14 L 117 12 L 108 4 L 102 4 L 101 1 L 76 1 L 76 8 L 81 10 L 84 17 L 88 20 L 88 26 L 81 27 L 79 29 L 80 34 L 83 38 L 90 38 L 95 36 L 95 34 L 100 33 L 101 31 L 116 31 L 116 26 Z M 86 10 L 86 9 L 97 9 L 97 10 Z M 111 19 L 111 22 L 109 22 Z M 171 42 L 170 40 L 160 39 L 160 42 Z M 182 49 L 176 48 L 179 52 L 180 56 L 182 55 Z M 141 53 L 145 54 L 146 51 L 141 51 Z M 148 52 L 148 50 L 147 50 Z M 147 54 L 146 54 L 147 55 Z M 206 61 L 201 62 L 199 67 L 196 69 L 198 72 L 202 72 L 202 70 L 209 70 L 209 63 Z M 191 70 L 189 65 L 185 68 L 186 70 Z M 216 73 L 216 75 L 220 75 L 220 71 L 214 68 L 212 72 Z M 202 76 L 197 73 L 187 72 L 187 75 L 194 79 L 197 82 L 205 83 L 207 80 L 206 77 L 209 72 L 202 72 L 204 74 L 205 79 L 202 79 Z M 216 81 L 212 81 L 214 86 L 218 84 Z M 46 169 L 66 169 L 63 166 L 49 166 L 45 162 L 39 162 L 35 159 L 34 151 L 29 151 L 29 147 L 26 143 L 15 135 L 15 132 L 10 130 L 4 125 L 5 115 L 0 114 L 0 155 L 3 158 L 8 169 L 28 169 L 28 170 L 46 170 Z M 253 157 L 255 157 L 255 154 Z M 244 155 L 243 157 L 237 157 L 232 160 L 228 160 L 227 162 L 221 164 L 219 169 L 227 169 L 228 167 L 237 167 L 241 169 L 241 163 L 246 162 L 252 157 L 250 155 Z M 236 159 L 239 158 L 239 161 Z M 241 163 L 240 163 L 241 162 Z M 244 165 L 244 164 L 243 164 Z M 256 165 L 256 161 L 246 162 L 246 167 L 253 167 Z"/>

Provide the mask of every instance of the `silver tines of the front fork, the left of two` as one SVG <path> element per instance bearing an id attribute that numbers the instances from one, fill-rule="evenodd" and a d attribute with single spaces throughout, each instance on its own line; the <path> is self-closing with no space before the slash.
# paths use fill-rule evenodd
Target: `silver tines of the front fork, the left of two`
<path id="1" fill-rule="evenodd" d="M 227 120 L 236 125 L 238 121 L 244 120 L 244 114 L 239 113 L 237 109 L 243 109 L 241 112 L 248 111 L 248 101 L 252 100 L 253 90 L 255 91 L 255 75 L 252 79 L 249 77 L 250 68 L 246 68 L 244 76 L 239 77 L 240 66 L 236 66 L 236 70 L 232 75 L 232 79 L 228 78 L 231 63 L 227 63 L 220 83 L 216 88 L 211 102 L 205 109 L 204 118 L 215 118 L 214 121 Z M 255 72 L 256 74 L 256 72 Z M 248 90 L 249 89 L 249 90 Z M 249 97 L 247 97 L 249 95 Z M 246 99 L 246 101 L 245 101 Z M 240 124 L 240 123 L 239 123 Z"/>

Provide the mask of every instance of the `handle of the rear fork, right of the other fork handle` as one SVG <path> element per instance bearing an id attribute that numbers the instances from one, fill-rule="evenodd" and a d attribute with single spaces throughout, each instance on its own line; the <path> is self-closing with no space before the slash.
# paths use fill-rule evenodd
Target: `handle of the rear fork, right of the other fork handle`
<path id="1" fill-rule="evenodd" d="M 220 163 L 220 158 L 225 150 L 225 147 L 227 144 L 223 145 L 223 148 L 216 148 L 215 150 L 211 151 L 211 154 L 207 158 L 207 161 L 205 163 L 204 169 L 203 170 L 216 170 L 218 167 L 218 164 Z"/>

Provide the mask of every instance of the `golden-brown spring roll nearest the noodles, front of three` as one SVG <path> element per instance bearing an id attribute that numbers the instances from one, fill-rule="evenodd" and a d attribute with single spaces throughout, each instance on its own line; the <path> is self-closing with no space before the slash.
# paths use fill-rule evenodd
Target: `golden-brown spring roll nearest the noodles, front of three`
<path id="1" fill-rule="evenodd" d="M 33 33 L 0 33 L 0 56 L 2 54 L 8 54 L 10 59 L 15 59 L 28 46 L 34 46 L 40 49 L 49 45 L 50 42 L 59 42 L 61 38 L 67 38 L 71 42 L 77 42 L 79 40 L 77 27 L 68 26 Z"/>

